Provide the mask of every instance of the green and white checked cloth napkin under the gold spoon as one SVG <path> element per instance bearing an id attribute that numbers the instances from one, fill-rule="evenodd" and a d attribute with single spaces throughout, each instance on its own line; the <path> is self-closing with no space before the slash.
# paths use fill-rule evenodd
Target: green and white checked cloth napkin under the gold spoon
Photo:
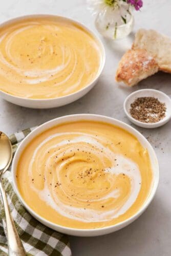
<path id="1" fill-rule="evenodd" d="M 34 129 L 26 129 L 10 136 L 13 154 L 19 143 Z M 24 206 L 19 202 L 11 181 L 10 170 L 4 175 L 4 185 L 7 193 L 8 204 L 15 221 L 15 225 L 22 239 L 27 255 L 71 255 L 69 238 L 65 234 L 58 233 L 34 219 Z M 0 255 L 8 255 L 5 213 L 0 196 Z"/>

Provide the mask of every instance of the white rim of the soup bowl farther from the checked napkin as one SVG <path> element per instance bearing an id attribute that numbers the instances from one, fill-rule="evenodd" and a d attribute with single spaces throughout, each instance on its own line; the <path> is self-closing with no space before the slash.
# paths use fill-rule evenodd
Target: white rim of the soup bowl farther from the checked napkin
<path id="1" fill-rule="evenodd" d="M 101 56 L 101 63 L 99 65 L 99 69 L 98 69 L 98 72 L 96 74 L 96 76 L 94 77 L 94 79 L 87 84 L 87 86 L 81 88 L 80 90 L 74 92 L 74 93 L 71 93 L 71 94 L 67 94 L 67 95 L 64 95 L 64 96 L 60 96 L 60 97 L 54 97 L 54 98 L 47 98 L 47 99 L 33 99 L 33 98 L 25 98 L 25 97 L 19 97 L 19 96 L 15 96 L 13 94 L 10 94 L 10 93 L 7 93 L 7 92 L 4 92 L 2 90 L 0 90 L 1 93 L 7 95 L 8 97 L 11 97 L 11 98 L 14 98 L 14 99 L 23 99 L 23 100 L 26 100 L 28 102 L 50 102 L 50 101 L 53 101 L 53 100 L 60 100 L 60 99 L 67 99 L 69 97 L 72 97 L 72 96 L 75 96 L 77 95 L 78 93 L 84 91 L 85 89 L 89 88 L 92 86 L 92 84 L 99 78 L 99 76 L 101 75 L 103 69 L 104 69 L 104 65 L 105 65 L 105 60 L 106 60 L 106 54 L 105 54 L 105 48 L 104 48 L 104 45 L 100 39 L 100 37 L 91 29 L 89 29 L 87 26 L 85 26 L 84 24 L 78 22 L 77 20 L 75 19 L 72 19 L 72 18 L 69 18 L 69 17 L 66 17 L 66 16 L 62 16 L 62 15 L 54 15 L 54 14 L 30 14 L 30 15 L 22 15 L 22 16 L 18 16 L 18 17 L 15 17 L 15 18 L 11 18 L 11 19 L 8 19 L 6 20 L 5 22 L 3 23 L 0 23 L 0 29 L 3 28 L 4 26 L 8 25 L 8 24 L 12 24 L 13 22 L 17 21 L 17 20 L 24 20 L 24 19 L 27 19 L 27 18 L 41 18 L 41 17 L 54 17 L 54 18 L 59 18 L 59 19 L 63 19 L 63 20 L 67 20 L 68 22 L 71 22 L 71 23 L 74 23 L 80 27 L 82 27 L 85 31 L 87 31 L 90 35 L 92 35 L 92 37 L 97 41 L 97 44 L 99 45 L 100 47 L 100 56 Z"/>

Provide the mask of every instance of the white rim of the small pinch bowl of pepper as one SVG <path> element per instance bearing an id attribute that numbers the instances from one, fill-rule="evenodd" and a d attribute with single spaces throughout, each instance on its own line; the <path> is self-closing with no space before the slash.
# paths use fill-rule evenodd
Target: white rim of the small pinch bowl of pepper
<path id="1" fill-rule="evenodd" d="M 157 94 L 161 94 L 161 95 L 164 96 L 164 98 L 167 98 L 167 99 L 168 99 L 168 101 L 170 102 L 170 106 L 171 106 L 171 99 L 170 99 L 170 97 L 169 97 L 167 94 L 165 94 L 164 92 L 162 92 L 162 91 L 160 91 L 160 90 L 155 90 L 155 89 L 141 89 L 141 90 L 137 90 L 137 91 L 135 91 L 135 92 L 129 94 L 129 95 L 125 98 L 125 100 L 124 100 L 124 102 L 123 102 L 123 109 L 124 109 L 124 112 L 125 112 L 126 116 L 127 116 L 133 123 L 137 124 L 138 126 L 143 125 L 143 127 L 147 127 L 147 128 L 156 128 L 158 125 L 161 126 L 161 125 L 165 124 L 166 122 L 168 122 L 169 119 L 171 118 L 171 113 L 170 113 L 170 115 L 166 115 L 163 119 L 161 119 L 160 121 L 157 121 L 157 122 L 155 122 L 155 123 L 145 123 L 145 122 L 141 122 L 141 121 L 139 121 L 139 120 L 137 120 L 137 119 L 135 119 L 135 118 L 133 118 L 133 117 L 131 116 L 131 114 L 129 113 L 129 110 L 128 110 L 127 107 L 126 107 L 127 101 L 129 101 L 129 99 L 131 99 L 131 98 L 132 98 L 134 95 L 136 95 L 136 94 L 137 94 L 137 97 L 138 97 L 138 94 L 139 94 L 140 92 L 156 92 Z M 146 96 L 146 97 L 150 97 L 150 96 Z"/>

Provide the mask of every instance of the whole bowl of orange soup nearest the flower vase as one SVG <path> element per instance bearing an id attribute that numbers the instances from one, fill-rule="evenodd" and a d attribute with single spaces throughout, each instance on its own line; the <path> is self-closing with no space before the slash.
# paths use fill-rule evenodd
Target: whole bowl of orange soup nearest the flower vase
<path id="1" fill-rule="evenodd" d="M 71 103 L 93 88 L 104 62 L 101 41 L 72 19 L 30 15 L 0 26 L 0 96 L 12 103 Z"/>

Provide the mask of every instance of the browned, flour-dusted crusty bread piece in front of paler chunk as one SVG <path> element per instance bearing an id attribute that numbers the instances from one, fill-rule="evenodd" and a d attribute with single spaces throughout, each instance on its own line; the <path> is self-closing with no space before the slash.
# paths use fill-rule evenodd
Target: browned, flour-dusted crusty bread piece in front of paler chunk
<path id="1" fill-rule="evenodd" d="M 152 55 L 144 49 L 129 50 L 121 58 L 116 81 L 134 86 L 142 79 L 158 72 L 159 66 Z"/>

